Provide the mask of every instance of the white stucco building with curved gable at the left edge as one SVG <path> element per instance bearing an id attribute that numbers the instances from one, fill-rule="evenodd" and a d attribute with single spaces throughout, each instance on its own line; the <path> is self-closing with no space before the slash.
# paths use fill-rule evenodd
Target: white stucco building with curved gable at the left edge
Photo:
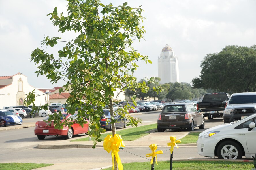
<path id="1" fill-rule="evenodd" d="M 46 96 L 27 81 L 27 77 L 18 73 L 13 76 L 0 76 L 0 108 L 3 106 L 23 105 L 25 94 L 35 90 L 35 105 L 43 105 L 46 103 Z"/>

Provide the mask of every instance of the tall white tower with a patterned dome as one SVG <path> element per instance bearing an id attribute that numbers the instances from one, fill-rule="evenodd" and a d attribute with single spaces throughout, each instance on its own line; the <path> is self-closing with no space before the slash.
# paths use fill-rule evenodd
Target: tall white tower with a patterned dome
<path id="1" fill-rule="evenodd" d="M 163 47 L 158 58 L 158 77 L 161 79 L 160 84 L 180 81 L 178 59 L 168 44 Z"/>

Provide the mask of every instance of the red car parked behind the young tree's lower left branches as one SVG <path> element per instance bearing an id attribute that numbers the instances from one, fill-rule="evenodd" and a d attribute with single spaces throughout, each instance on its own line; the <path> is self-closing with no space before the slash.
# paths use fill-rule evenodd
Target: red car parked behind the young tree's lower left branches
<path id="1" fill-rule="evenodd" d="M 63 119 L 71 119 L 77 118 L 77 114 L 62 114 L 61 120 Z M 47 116 L 45 120 L 48 120 L 49 117 Z M 37 121 L 35 123 L 35 135 L 37 135 L 37 138 L 42 140 L 46 136 L 65 136 L 66 139 L 71 139 L 73 135 L 81 134 L 81 133 L 87 133 L 88 132 L 88 124 L 89 121 L 87 120 L 87 123 L 84 124 L 84 127 L 81 127 L 78 123 L 74 123 L 70 128 L 68 126 L 64 126 L 63 129 L 54 129 L 53 122 L 51 123 L 51 126 L 48 125 L 49 123 L 44 122 L 43 120 Z"/>

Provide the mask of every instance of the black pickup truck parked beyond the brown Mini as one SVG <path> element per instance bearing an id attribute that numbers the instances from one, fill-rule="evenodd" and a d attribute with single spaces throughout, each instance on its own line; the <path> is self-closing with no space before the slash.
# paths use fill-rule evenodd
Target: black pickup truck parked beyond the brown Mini
<path id="1" fill-rule="evenodd" d="M 202 102 L 197 103 L 197 110 L 201 110 L 204 117 L 213 119 L 214 117 L 222 117 L 225 105 L 223 101 L 227 101 L 230 95 L 228 93 L 208 93 L 203 97 Z"/>

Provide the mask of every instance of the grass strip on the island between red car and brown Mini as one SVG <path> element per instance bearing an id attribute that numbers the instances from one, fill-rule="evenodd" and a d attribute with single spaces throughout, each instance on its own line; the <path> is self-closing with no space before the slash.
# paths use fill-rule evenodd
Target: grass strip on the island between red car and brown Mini
<path id="1" fill-rule="evenodd" d="M 150 130 L 153 130 L 153 129 L 157 129 L 157 124 L 124 129 L 124 130 L 121 130 L 121 131 L 117 131 L 116 133 L 118 135 L 121 135 L 123 140 L 133 141 L 133 140 L 136 140 L 136 139 L 139 139 L 143 136 L 148 135 L 149 133 L 146 133 L 146 132 L 148 132 Z M 111 134 L 112 133 L 103 133 L 101 135 L 101 139 L 104 139 L 107 135 L 111 135 Z M 89 137 L 76 139 L 76 140 L 71 140 L 71 141 L 89 141 Z"/>

